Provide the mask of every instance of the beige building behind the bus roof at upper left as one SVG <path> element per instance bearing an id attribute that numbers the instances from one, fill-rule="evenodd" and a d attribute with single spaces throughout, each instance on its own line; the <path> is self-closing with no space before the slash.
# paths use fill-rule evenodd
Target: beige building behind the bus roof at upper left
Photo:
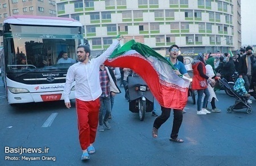
<path id="1" fill-rule="evenodd" d="M 0 29 L 2 29 L 3 20 L 12 15 L 56 16 L 56 2 L 52 0 L 1 0 Z M 0 41 L 2 42 L 1 38 Z"/>

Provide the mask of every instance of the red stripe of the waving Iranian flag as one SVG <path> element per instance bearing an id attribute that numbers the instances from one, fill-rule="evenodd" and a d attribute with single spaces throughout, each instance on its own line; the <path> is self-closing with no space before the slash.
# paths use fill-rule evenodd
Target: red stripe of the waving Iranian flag
<path id="1" fill-rule="evenodd" d="M 104 64 L 112 67 L 127 67 L 139 74 L 163 107 L 183 109 L 187 104 L 188 88 L 181 88 L 160 80 L 151 62 L 140 54 L 118 56 L 106 60 Z"/>

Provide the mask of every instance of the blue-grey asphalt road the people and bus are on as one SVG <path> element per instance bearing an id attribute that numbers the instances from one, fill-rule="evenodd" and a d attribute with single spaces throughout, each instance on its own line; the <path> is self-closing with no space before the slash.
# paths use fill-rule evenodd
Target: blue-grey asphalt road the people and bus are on
<path id="1" fill-rule="evenodd" d="M 80 159 L 74 101 L 71 109 L 65 108 L 63 101 L 10 106 L 1 83 L 0 165 L 255 165 L 256 101 L 251 99 L 251 114 L 245 109 L 227 113 L 234 98 L 224 91 L 218 91 L 217 97 L 216 105 L 222 112 L 200 116 L 188 98 L 179 132 L 185 142 L 175 143 L 169 141 L 172 114 L 155 139 L 151 136 L 155 117 L 146 113 L 140 121 L 137 113 L 129 111 L 124 93 L 118 94 L 112 128 L 97 132 L 96 153 L 84 162 Z M 158 104 L 157 109 L 160 113 Z M 10 153 L 11 148 L 18 147 L 49 149 L 44 153 Z M 31 156 L 37 160 L 26 160 Z"/>

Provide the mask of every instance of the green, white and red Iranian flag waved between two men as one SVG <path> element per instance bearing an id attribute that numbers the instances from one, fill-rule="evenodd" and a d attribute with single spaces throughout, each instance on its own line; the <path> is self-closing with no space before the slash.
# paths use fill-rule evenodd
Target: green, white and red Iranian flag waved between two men
<path id="1" fill-rule="evenodd" d="M 147 45 L 130 40 L 115 49 L 105 65 L 127 67 L 139 74 L 163 107 L 183 109 L 187 104 L 190 80 L 176 75 L 172 63 Z"/>

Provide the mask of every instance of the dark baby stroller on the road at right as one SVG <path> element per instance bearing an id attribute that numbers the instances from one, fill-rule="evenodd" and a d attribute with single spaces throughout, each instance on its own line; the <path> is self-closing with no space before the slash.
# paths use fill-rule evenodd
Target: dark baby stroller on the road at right
<path id="1" fill-rule="evenodd" d="M 251 105 L 247 103 L 246 97 L 243 97 L 236 93 L 233 90 L 233 87 L 229 86 L 228 81 L 225 78 L 222 78 L 220 80 L 220 83 L 224 86 L 226 90 L 228 90 L 230 93 L 233 93 L 234 97 L 236 98 L 235 104 L 230 106 L 228 109 L 226 109 L 228 112 L 231 112 L 233 109 L 243 109 L 246 108 L 246 113 L 251 113 Z"/>

